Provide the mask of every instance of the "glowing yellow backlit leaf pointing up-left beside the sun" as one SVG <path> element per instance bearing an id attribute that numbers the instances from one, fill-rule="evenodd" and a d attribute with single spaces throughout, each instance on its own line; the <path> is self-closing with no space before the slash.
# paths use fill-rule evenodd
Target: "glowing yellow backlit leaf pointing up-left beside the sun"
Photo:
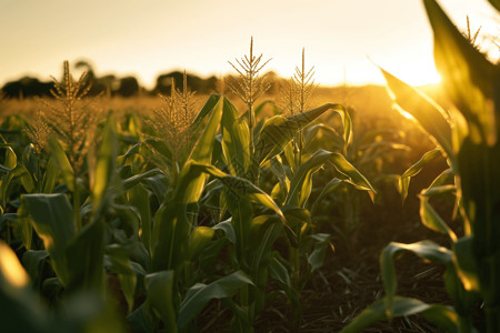
<path id="1" fill-rule="evenodd" d="M 410 113 L 454 164 L 451 127 L 446 111 L 423 92 L 404 83 L 383 69 L 380 70 L 386 77 L 389 92 L 399 110 Z"/>

